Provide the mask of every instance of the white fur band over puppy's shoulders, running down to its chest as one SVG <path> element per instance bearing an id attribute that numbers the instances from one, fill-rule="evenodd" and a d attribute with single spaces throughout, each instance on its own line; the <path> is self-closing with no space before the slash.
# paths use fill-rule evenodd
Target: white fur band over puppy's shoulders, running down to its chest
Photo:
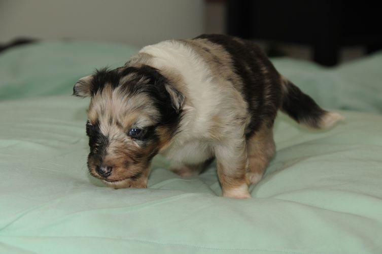
<path id="1" fill-rule="evenodd" d="M 152 67 L 179 73 L 186 84 L 184 90 L 180 90 L 186 96 L 181 132 L 161 152 L 174 161 L 204 162 L 212 156 L 210 145 L 222 142 L 237 131 L 231 123 L 246 119 L 246 102 L 231 83 L 215 76 L 204 59 L 180 41 L 164 41 L 146 46 L 140 52 L 153 56 Z"/>

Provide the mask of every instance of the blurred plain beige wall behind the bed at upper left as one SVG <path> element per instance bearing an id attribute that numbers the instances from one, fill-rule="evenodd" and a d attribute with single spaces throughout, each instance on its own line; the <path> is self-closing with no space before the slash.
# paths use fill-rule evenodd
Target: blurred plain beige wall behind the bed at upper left
<path id="1" fill-rule="evenodd" d="M 203 0 L 0 1 L 0 43 L 23 36 L 143 46 L 203 30 Z"/>

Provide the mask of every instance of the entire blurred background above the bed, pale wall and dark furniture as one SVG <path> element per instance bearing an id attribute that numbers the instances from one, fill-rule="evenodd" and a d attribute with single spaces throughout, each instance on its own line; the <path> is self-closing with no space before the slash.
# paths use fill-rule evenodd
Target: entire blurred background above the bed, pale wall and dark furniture
<path id="1" fill-rule="evenodd" d="M 323 66 L 382 48 L 377 2 L 304 0 L 1 0 L 0 50 L 29 39 L 137 47 L 219 33 L 251 39 L 269 56 Z"/>

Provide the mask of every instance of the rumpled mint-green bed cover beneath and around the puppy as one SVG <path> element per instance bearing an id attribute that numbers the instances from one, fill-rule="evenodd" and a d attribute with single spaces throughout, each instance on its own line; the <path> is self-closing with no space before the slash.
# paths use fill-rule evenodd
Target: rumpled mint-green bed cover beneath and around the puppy
<path id="1" fill-rule="evenodd" d="M 90 177 L 73 84 L 117 67 L 126 45 L 44 42 L 0 54 L 0 253 L 382 252 L 382 54 L 335 69 L 276 68 L 346 119 L 327 131 L 284 114 L 252 199 L 219 197 L 215 165 L 180 177 L 154 158 L 147 189 Z"/>

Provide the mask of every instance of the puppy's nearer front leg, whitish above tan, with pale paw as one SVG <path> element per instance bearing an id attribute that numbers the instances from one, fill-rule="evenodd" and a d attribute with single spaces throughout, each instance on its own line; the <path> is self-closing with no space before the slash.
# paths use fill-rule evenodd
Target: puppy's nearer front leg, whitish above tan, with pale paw
<path id="1" fill-rule="evenodd" d="M 247 183 L 247 150 L 245 141 L 215 147 L 219 181 L 223 197 L 248 199 L 251 195 Z"/>

